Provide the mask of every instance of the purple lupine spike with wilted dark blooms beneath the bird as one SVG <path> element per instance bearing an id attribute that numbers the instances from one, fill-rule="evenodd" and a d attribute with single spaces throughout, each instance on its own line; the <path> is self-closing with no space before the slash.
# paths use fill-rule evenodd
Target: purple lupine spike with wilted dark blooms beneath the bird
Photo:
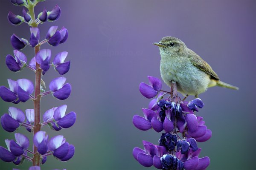
<path id="1" fill-rule="evenodd" d="M 212 132 L 204 125 L 203 118 L 195 115 L 204 103 L 199 98 L 190 102 L 181 100 L 176 82 L 172 82 L 171 92 L 166 92 L 161 90 L 160 79 L 151 76 L 148 79 L 149 85 L 140 84 L 140 92 L 148 99 L 157 98 L 151 100 L 148 108 L 142 108 L 144 116 L 134 115 L 133 124 L 140 130 L 153 128 L 157 132 L 164 130 L 164 133 L 158 145 L 143 141 L 144 149 L 135 147 L 134 158 L 145 167 L 154 165 L 163 170 L 206 169 L 210 160 L 198 157 L 201 148 L 197 142 L 207 141 Z"/>

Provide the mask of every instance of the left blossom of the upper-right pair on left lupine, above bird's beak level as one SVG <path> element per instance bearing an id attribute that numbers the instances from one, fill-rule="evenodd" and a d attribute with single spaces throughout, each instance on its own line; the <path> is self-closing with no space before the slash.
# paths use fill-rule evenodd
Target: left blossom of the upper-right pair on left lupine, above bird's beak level
<path id="1" fill-rule="evenodd" d="M 57 46 L 61 41 L 61 33 L 57 31 L 58 26 L 51 26 L 46 34 L 46 40 L 49 45 Z"/>

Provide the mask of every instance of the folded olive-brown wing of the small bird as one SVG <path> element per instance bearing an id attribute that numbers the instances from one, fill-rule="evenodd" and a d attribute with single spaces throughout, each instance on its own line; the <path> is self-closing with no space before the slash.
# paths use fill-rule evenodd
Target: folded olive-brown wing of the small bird
<path id="1" fill-rule="evenodd" d="M 215 71 L 212 70 L 211 66 L 192 50 L 189 55 L 189 59 L 193 63 L 193 65 L 209 74 L 212 79 L 219 80 L 218 75 L 215 73 Z"/>

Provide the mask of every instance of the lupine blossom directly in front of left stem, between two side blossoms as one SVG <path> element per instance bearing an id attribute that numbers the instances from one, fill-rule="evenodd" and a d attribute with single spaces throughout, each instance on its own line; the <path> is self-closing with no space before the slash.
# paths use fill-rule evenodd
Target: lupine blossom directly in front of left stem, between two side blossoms
<path id="1" fill-rule="evenodd" d="M 40 50 L 36 55 L 35 55 L 35 60 L 38 64 L 40 64 L 40 67 L 44 71 L 48 71 L 50 68 L 49 62 L 51 59 L 52 53 L 50 49 L 43 49 Z M 31 60 L 32 61 L 32 60 Z"/>

